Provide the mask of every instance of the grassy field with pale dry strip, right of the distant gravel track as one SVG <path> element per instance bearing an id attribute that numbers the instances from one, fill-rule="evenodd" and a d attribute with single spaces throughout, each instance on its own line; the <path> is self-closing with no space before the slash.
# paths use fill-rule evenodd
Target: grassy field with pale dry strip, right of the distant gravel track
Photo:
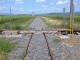
<path id="1" fill-rule="evenodd" d="M 44 16 L 43 19 L 49 28 L 70 28 L 70 16 L 66 16 L 65 24 L 63 15 L 48 15 Z M 80 30 L 80 15 L 75 16 L 73 29 Z"/>

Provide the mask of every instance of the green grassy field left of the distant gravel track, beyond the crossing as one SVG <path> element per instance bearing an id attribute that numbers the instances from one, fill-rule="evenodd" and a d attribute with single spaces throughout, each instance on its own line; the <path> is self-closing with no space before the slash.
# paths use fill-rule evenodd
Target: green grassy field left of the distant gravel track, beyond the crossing
<path id="1" fill-rule="evenodd" d="M 24 30 L 34 20 L 34 16 L 12 16 L 12 29 L 13 30 Z M 0 30 L 9 30 L 10 17 L 0 16 Z"/>

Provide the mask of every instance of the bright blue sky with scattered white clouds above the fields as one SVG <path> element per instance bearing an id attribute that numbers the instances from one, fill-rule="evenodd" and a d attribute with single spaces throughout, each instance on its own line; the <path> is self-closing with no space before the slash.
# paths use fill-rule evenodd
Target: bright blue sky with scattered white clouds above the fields
<path id="1" fill-rule="evenodd" d="M 80 0 L 74 0 L 75 12 L 80 11 Z M 42 14 L 70 11 L 70 0 L 0 0 L 0 13 Z"/>

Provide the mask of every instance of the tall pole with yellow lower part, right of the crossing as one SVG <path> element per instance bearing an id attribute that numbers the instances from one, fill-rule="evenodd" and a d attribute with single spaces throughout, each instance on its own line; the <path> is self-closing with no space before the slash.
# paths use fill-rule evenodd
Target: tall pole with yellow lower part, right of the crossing
<path id="1" fill-rule="evenodd" d="M 73 24 L 74 24 L 74 3 L 73 0 L 70 0 L 70 34 L 73 37 Z"/>

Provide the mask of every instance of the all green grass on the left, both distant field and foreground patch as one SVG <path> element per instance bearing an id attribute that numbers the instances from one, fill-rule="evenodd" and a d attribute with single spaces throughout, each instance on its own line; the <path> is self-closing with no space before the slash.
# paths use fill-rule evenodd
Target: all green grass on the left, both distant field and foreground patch
<path id="1" fill-rule="evenodd" d="M 12 30 L 26 29 L 34 18 L 35 16 L 12 16 Z M 6 29 L 10 30 L 10 16 L 0 16 L 0 34 Z M 15 44 L 0 39 L 0 60 L 6 60 L 7 53 L 15 47 Z"/>

